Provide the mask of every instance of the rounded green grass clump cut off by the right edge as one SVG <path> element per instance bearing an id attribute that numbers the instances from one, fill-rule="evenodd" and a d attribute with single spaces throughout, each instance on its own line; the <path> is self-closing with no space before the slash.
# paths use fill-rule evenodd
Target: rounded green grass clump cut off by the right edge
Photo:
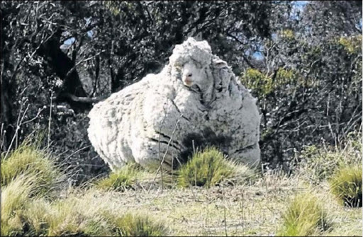
<path id="1" fill-rule="evenodd" d="M 362 166 L 337 170 L 330 180 L 330 190 L 348 207 L 362 207 Z"/>

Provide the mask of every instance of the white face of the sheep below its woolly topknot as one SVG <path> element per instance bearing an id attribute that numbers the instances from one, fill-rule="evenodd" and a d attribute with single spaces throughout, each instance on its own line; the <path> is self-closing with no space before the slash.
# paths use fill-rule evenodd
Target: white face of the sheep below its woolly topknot
<path id="1" fill-rule="evenodd" d="M 184 86 L 197 85 L 199 88 L 203 88 L 203 84 L 208 81 L 208 76 L 205 69 L 197 67 L 193 62 L 186 62 L 182 69 L 181 81 Z"/>

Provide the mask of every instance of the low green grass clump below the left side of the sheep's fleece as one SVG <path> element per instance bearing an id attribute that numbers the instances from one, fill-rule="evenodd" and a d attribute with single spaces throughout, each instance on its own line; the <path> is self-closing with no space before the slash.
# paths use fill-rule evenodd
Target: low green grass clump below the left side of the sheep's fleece
<path id="1" fill-rule="evenodd" d="M 146 171 L 138 164 L 130 163 L 111 173 L 108 178 L 97 180 L 95 186 L 101 190 L 125 191 L 133 189 L 135 182 L 145 176 Z"/>

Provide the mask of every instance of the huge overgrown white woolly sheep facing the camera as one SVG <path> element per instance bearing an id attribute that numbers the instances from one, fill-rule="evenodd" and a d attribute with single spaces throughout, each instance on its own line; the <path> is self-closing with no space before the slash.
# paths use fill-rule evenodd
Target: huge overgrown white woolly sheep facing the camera
<path id="1" fill-rule="evenodd" d="M 256 102 L 208 42 L 189 38 L 160 74 L 94 105 L 89 140 L 112 170 L 129 162 L 172 169 L 190 157 L 192 141 L 252 166 L 259 163 Z"/>

